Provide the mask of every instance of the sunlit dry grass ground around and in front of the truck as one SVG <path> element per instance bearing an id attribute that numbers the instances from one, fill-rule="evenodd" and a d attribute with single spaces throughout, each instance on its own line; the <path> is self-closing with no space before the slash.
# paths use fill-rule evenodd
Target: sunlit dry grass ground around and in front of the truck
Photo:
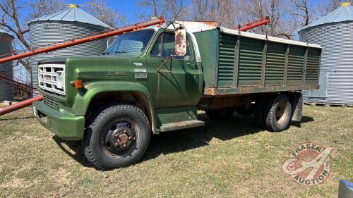
<path id="1" fill-rule="evenodd" d="M 203 128 L 153 136 L 139 163 L 104 172 L 30 108 L 0 116 L 0 197 L 337 197 L 339 180 L 353 181 L 353 108 L 304 106 L 302 122 L 279 133 L 251 117 L 200 117 Z M 335 147 L 322 185 L 303 187 L 281 171 L 304 142 Z"/>

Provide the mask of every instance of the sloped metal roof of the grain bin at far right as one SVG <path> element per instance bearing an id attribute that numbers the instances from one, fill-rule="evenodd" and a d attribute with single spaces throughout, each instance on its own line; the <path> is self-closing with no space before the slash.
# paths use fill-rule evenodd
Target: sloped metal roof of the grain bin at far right
<path id="1" fill-rule="evenodd" d="M 335 11 L 332 11 L 327 15 L 323 16 L 322 18 L 313 21 L 313 23 L 306 25 L 305 27 L 301 28 L 301 30 L 304 30 L 308 27 L 323 25 L 325 23 L 337 23 L 347 20 L 353 20 L 353 6 L 343 5 L 340 8 L 335 9 Z"/>

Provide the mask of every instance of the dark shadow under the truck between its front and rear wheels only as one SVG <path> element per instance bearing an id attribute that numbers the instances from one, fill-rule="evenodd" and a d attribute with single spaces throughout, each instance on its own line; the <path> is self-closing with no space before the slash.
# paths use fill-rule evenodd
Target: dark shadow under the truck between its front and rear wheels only
<path id="1" fill-rule="evenodd" d="M 140 161 L 154 159 L 161 154 L 205 147 L 214 138 L 226 141 L 262 131 L 254 125 L 252 116 L 234 115 L 229 120 L 211 120 L 203 113 L 198 115 L 198 119 L 205 121 L 203 127 L 152 135 L 148 149 Z"/>

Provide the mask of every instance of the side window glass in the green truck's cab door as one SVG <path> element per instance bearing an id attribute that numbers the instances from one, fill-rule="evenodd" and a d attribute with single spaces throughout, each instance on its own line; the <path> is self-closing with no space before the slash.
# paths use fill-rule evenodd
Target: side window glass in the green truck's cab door
<path id="1" fill-rule="evenodd" d="M 162 44 L 163 42 L 163 44 Z M 185 56 L 174 56 L 174 59 L 189 61 L 192 59 L 190 51 L 189 38 L 186 39 L 186 54 Z M 151 56 L 157 56 L 166 58 L 170 55 L 175 54 L 175 36 L 173 33 L 163 32 L 155 42 L 155 46 L 152 49 Z"/>

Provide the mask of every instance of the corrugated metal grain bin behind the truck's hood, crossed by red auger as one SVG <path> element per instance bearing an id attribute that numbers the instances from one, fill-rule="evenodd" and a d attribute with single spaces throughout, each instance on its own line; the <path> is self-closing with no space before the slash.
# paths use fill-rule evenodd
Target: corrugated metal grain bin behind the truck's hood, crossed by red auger
<path id="1" fill-rule="evenodd" d="M 47 44 L 68 39 L 86 37 L 104 30 L 112 29 L 109 25 L 81 10 L 78 5 L 70 4 L 64 11 L 42 16 L 28 23 L 30 27 L 30 46 L 42 47 Z M 66 49 L 52 51 L 49 54 L 38 54 L 30 59 L 32 68 L 32 86 L 37 87 L 37 62 L 54 56 L 88 56 L 100 55 L 107 49 L 107 39 L 80 44 Z"/>

